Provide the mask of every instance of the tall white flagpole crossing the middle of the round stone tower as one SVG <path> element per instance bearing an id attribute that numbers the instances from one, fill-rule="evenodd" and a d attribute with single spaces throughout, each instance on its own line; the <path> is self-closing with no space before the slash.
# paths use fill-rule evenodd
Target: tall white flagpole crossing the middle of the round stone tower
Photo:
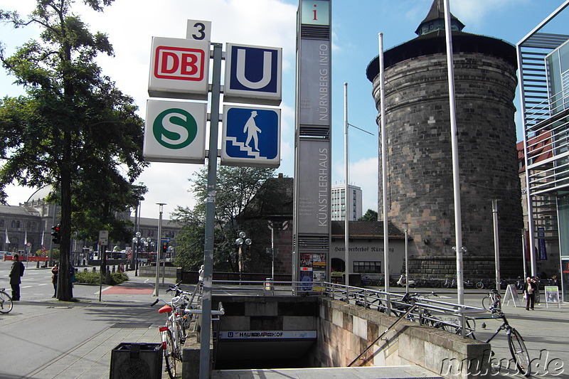
<path id="1" fill-rule="evenodd" d="M 458 162 L 457 114 L 454 102 L 454 67 L 452 60 L 452 30 L 450 26 L 449 0 L 445 1 L 445 35 L 447 37 L 447 69 L 449 77 L 450 134 L 452 142 L 452 183 L 454 189 L 454 235 L 457 250 L 457 298 L 464 304 L 464 281 L 462 277 L 462 216 L 460 209 L 460 176 Z M 464 331 L 464 328 L 462 328 Z"/>

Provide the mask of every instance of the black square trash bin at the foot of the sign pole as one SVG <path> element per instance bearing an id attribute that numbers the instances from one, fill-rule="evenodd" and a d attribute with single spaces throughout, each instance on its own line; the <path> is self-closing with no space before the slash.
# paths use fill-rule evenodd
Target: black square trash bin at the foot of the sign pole
<path id="1" fill-rule="evenodd" d="M 111 351 L 110 379 L 160 379 L 161 343 L 120 343 Z"/>

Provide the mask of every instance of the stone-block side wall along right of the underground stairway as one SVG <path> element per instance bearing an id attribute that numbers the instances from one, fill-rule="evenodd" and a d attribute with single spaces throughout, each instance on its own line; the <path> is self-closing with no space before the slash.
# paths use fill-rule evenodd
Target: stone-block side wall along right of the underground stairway
<path id="1" fill-rule="evenodd" d="M 325 297 L 319 299 L 319 306 L 318 340 L 312 351 L 314 367 L 349 365 L 396 320 Z M 449 379 L 489 378 L 489 352 L 489 343 L 403 320 L 354 366 L 411 364 Z M 471 364 L 470 373 L 463 363 Z"/>

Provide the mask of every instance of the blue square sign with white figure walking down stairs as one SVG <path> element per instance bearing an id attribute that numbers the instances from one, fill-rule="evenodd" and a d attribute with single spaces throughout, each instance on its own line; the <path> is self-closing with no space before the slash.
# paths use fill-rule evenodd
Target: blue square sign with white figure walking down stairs
<path id="1" fill-rule="evenodd" d="M 280 110 L 223 106 L 221 164 L 280 166 Z"/>

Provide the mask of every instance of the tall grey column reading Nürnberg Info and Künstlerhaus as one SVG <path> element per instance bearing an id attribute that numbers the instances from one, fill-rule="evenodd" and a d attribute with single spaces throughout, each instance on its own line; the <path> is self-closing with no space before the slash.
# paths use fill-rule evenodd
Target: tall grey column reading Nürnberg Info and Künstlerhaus
<path id="1" fill-rule="evenodd" d="M 300 0 L 297 15 L 292 275 L 309 292 L 330 272 L 331 0 Z"/>

